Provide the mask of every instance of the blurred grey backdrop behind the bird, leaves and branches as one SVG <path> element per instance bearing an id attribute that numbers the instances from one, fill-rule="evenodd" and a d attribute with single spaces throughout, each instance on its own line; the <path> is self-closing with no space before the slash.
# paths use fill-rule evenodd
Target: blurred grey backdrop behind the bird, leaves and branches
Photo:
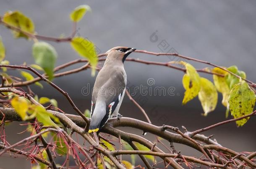
<path id="1" fill-rule="evenodd" d="M 78 23 L 78 35 L 92 40 L 99 53 L 104 53 L 115 46 L 128 46 L 140 50 L 153 52 L 176 52 L 193 58 L 215 63 L 219 66 L 238 66 L 245 71 L 247 78 L 256 81 L 256 1 L 254 0 L 214 0 L 214 1 L 170 1 L 170 0 L 133 0 L 133 1 L 63 1 L 63 0 L 1 0 L 0 15 L 8 10 L 20 10 L 30 17 L 35 29 L 40 35 L 58 37 L 70 35 L 72 23 L 69 14 L 78 5 L 87 4 L 92 12 L 86 13 Z M 0 26 L 0 35 L 7 50 L 6 59 L 11 64 L 31 64 L 32 41 L 24 38 L 14 39 L 10 30 Z M 69 43 L 51 43 L 57 50 L 56 66 L 80 58 L 70 47 Z M 175 61 L 179 58 L 167 56 L 154 56 L 132 53 L 131 58 L 148 61 Z M 205 68 L 207 65 L 189 61 L 196 68 Z M 102 65 L 102 63 L 99 63 Z M 82 66 L 77 64 L 68 69 Z M 67 70 L 68 70 L 67 69 Z M 136 92 L 134 99 L 141 104 L 153 124 L 168 124 L 172 126 L 185 126 L 189 131 L 209 126 L 225 120 L 225 107 L 221 104 L 222 96 L 219 94 L 217 108 L 208 116 L 201 114 L 203 110 L 198 98 L 194 98 L 187 105 L 182 106 L 184 89 L 182 86 L 183 72 L 167 67 L 143 65 L 141 63 L 125 62 L 128 78 L 128 88 L 147 86 L 151 88 L 172 88 L 172 96 L 143 96 Z M 16 74 L 15 71 L 12 71 Z M 200 73 L 201 76 L 212 80 L 212 76 Z M 152 82 L 149 83 L 149 80 Z M 91 71 L 55 78 L 54 83 L 67 91 L 81 111 L 89 109 L 91 93 L 95 77 Z M 44 89 L 32 86 L 32 90 L 39 97 L 55 98 L 59 107 L 70 114 L 75 114 L 72 107 L 54 88 L 42 82 Z M 139 109 L 125 96 L 120 114 L 146 121 Z M 229 116 L 229 118 L 232 118 Z M 238 128 L 234 123 L 219 126 L 216 129 L 204 132 L 230 149 L 235 151 L 256 151 L 255 123 L 251 118 Z M 16 133 L 24 128 L 18 124 L 7 126 L 6 132 L 10 143 L 21 140 Z M 141 131 L 128 129 L 129 132 L 141 134 Z M 154 141 L 150 134 L 145 136 Z M 197 152 L 186 146 L 174 144 L 175 149 L 184 155 L 198 155 Z M 0 158 L 0 168 L 13 169 L 30 168 L 29 161 L 24 157 L 16 158 L 9 163 L 9 156 Z M 60 159 L 61 160 L 61 159 Z M 140 161 L 138 160 L 139 164 Z"/>

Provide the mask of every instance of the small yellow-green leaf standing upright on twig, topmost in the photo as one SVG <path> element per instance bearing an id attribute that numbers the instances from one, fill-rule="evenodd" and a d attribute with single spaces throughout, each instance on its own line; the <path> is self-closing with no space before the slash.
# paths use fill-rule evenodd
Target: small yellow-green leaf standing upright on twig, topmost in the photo
<path id="1" fill-rule="evenodd" d="M 87 11 L 91 11 L 88 5 L 80 5 L 70 14 L 70 19 L 74 22 L 79 22 Z"/>

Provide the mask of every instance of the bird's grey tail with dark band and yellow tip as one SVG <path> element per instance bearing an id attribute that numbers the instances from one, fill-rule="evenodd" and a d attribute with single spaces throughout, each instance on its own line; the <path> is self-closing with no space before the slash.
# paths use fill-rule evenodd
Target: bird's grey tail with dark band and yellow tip
<path id="1" fill-rule="evenodd" d="M 104 102 L 96 102 L 88 133 L 97 132 L 102 127 L 102 119 L 106 114 L 106 104 Z"/>

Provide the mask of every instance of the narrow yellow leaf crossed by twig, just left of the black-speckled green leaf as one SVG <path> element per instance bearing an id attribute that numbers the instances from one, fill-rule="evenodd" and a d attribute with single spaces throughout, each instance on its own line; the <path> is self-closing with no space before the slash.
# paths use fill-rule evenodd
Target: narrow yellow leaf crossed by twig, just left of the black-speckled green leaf
<path id="1" fill-rule="evenodd" d="M 227 75 L 227 71 L 224 71 L 220 68 L 213 68 L 212 72 L 222 74 L 223 76 Z M 217 91 L 222 93 L 222 104 L 225 107 L 227 107 L 230 89 L 229 89 L 229 86 L 227 85 L 226 78 L 222 76 L 213 75 L 213 81 L 214 81 L 214 85 L 217 88 Z"/>

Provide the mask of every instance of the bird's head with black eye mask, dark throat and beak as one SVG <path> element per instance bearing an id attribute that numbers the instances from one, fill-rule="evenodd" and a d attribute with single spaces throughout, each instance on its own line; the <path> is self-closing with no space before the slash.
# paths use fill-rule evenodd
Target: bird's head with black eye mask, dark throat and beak
<path id="1" fill-rule="evenodd" d="M 117 46 L 108 50 L 106 54 L 109 60 L 120 60 L 124 62 L 127 56 L 134 50 L 136 50 L 136 48 Z"/>

